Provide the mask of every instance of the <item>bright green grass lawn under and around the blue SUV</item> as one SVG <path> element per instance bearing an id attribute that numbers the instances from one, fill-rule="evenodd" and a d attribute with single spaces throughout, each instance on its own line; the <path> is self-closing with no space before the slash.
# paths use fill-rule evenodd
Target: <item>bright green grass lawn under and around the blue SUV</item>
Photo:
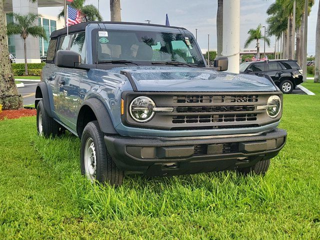
<path id="1" fill-rule="evenodd" d="M 285 95 L 283 150 L 264 177 L 233 172 L 118 189 L 80 174 L 80 141 L 36 135 L 35 117 L 0 121 L 0 239 L 319 239 L 320 84 Z"/>

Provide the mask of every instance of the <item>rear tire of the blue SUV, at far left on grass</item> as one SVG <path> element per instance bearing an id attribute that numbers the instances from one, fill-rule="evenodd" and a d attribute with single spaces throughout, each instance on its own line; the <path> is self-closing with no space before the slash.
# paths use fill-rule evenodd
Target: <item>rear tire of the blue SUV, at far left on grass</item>
<path id="1" fill-rule="evenodd" d="M 43 100 L 40 100 L 36 106 L 36 130 L 40 136 L 56 136 L 59 133 L 59 123 L 50 117 L 45 108 Z"/>

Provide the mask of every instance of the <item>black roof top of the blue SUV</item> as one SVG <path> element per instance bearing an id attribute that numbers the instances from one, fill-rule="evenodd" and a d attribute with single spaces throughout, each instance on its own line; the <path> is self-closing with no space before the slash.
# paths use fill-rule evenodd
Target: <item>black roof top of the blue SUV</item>
<path id="1" fill-rule="evenodd" d="M 103 23 L 103 24 L 125 24 L 125 25 L 145 25 L 145 26 L 157 26 L 157 27 L 168 27 L 168 28 L 179 28 L 179 29 L 184 29 L 184 27 L 177 27 L 177 26 L 166 26 L 166 25 L 160 25 L 160 24 L 150 24 L 150 23 L 144 23 L 144 22 L 125 22 L 125 21 L 86 21 L 86 22 L 81 22 L 78 24 L 74 24 L 69 26 L 68 28 L 68 33 L 74 33 L 78 31 L 84 31 L 85 27 L 90 24 L 90 23 Z M 50 37 L 57 37 L 60 35 L 65 35 L 66 34 L 66 27 L 55 30 L 51 33 Z"/>

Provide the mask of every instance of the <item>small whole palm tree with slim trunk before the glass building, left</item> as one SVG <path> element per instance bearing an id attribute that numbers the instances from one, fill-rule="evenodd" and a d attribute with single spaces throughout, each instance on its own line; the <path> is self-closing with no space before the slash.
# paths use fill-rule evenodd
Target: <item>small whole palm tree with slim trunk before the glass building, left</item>
<path id="1" fill-rule="evenodd" d="M 13 22 L 10 22 L 6 26 L 8 35 L 19 34 L 23 39 L 24 50 L 24 71 L 25 75 L 28 74 L 28 68 L 26 64 L 26 38 L 28 35 L 34 37 L 43 37 L 47 40 L 45 30 L 43 26 L 34 25 L 35 20 L 40 16 L 39 14 L 28 12 L 25 15 L 19 13 L 11 13 L 13 15 Z"/>

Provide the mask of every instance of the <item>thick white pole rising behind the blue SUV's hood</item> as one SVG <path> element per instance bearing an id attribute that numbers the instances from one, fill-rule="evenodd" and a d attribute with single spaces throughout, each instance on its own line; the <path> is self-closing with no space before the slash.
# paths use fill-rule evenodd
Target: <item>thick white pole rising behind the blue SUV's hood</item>
<path id="1" fill-rule="evenodd" d="M 222 56 L 228 57 L 227 72 L 239 73 L 240 0 L 223 1 Z"/>

